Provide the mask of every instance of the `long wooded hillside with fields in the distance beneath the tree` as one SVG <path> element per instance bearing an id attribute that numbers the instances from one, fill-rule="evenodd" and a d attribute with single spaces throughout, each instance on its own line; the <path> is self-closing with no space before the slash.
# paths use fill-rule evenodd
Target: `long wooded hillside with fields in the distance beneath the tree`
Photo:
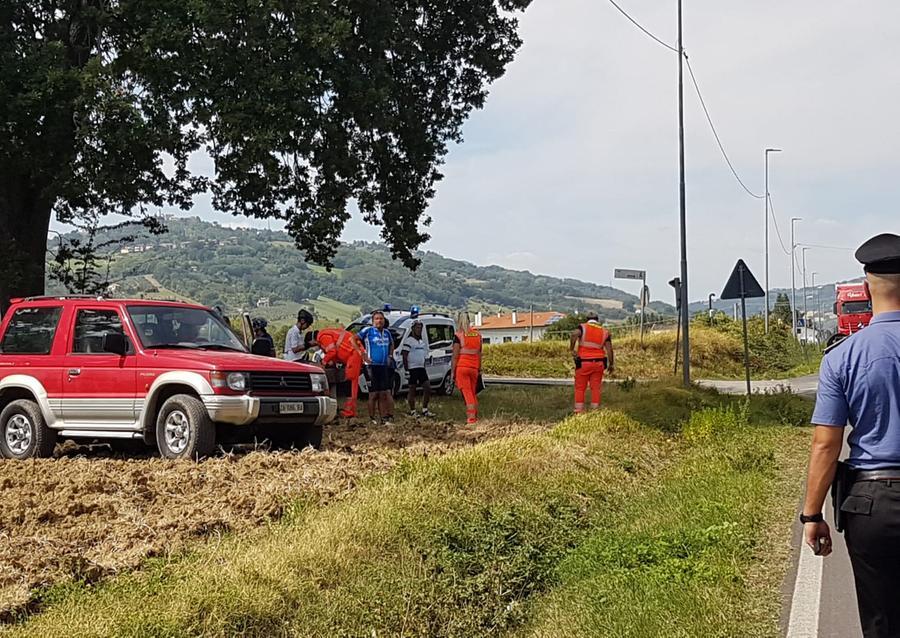
<path id="1" fill-rule="evenodd" d="M 323 318 L 346 321 L 362 308 L 391 303 L 432 310 L 596 310 L 609 320 L 633 316 L 636 296 L 575 279 L 559 279 L 499 266 L 476 266 L 433 252 L 419 256 L 416 272 L 394 261 L 375 243 L 344 244 L 331 271 L 307 264 L 282 232 L 229 228 L 197 217 L 171 218 L 162 235 L 139 234 L 111 244 L 109 282 L 117 295 L 193 300 L 229 311 L 285 321 L 301 306 Z M 115 242 L 132 231 L 101 233 L 96 242 Z M 67 236 L 71 238 L 72 236 Z M 48 290 L 60 291 L 48 282 Z M 663 303 L 651 308 L 673 309 Z"/>

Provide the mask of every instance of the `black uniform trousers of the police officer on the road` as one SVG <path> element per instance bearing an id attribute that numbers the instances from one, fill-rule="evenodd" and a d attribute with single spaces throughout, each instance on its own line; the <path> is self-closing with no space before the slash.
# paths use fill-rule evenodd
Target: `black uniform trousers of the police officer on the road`
<path id="1" fill-rule="evenodd" d="M 841 506 L 865 638 L 900 637 L 900 481 L 857 481 Z"/>

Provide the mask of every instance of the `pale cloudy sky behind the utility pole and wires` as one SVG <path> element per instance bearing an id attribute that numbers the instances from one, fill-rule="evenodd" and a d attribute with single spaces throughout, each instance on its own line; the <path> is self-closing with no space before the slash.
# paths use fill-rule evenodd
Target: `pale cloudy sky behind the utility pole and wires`
<path id="1" fill-rule="evenodd" d="M 618 0 L 675 44 L 675 0 Z M 853 251 L 900 233 L 900 3 L 686 0 L 684 46 L 735 168 L 757 194 L 770 155 L 770 284 L 790 287 L 791 217 L 818 282 L 857 277 Z M 616 285 L 679 274 L 677 55 L 608 0 L 534 0 L 524 46 L 451 149 L 423 247 L 480 265 Z M 719 293 L 738 258 L 764 282 L 762 199 L 728 170 L 686 73 L 689 296 Z M 198 199 L 191 214 L 220 222 Z M 259 223 L 257 222 L 257 225 Z M 376 240 L 354 219 L 344 239 Z M 798 251 L 799 259 L 799 251 Z M 399 266 L 398 266 L 399 267 Z M 797 281 L 800 275 L 797 274 Z"/>

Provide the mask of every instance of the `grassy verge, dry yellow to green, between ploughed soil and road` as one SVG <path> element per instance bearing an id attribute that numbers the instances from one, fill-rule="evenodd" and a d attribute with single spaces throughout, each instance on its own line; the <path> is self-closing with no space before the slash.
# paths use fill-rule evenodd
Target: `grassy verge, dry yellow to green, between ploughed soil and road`
<path id="1" fill-rule="evenodd" d="M 485 408 L 519 396 L 491 394 Z M 808 418 L 809 405 L 662 386 L 608 399 L 550 431 L 411 459 L 338 503 L 53 591 L 9 633 L 775 635 L 806 433 L 772 415 Z M 644 418 L 642 403 L 646 425 L 629 416 Z"/>

